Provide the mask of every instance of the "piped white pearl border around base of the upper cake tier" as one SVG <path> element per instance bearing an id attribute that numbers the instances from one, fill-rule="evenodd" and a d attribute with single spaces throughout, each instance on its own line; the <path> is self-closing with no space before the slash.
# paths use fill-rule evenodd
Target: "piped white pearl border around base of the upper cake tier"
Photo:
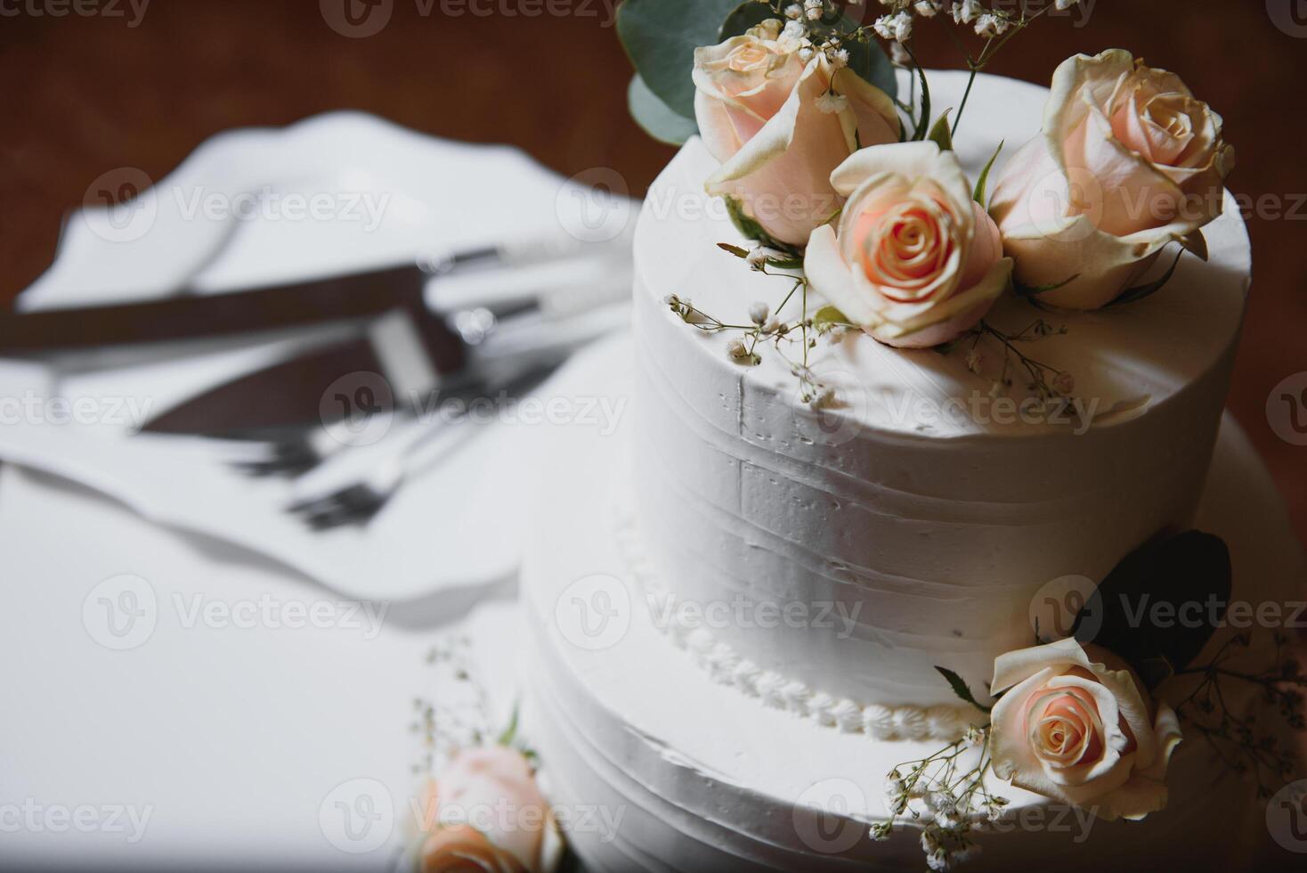
<path id="1" fill-rule="evenodd" d="M 652 612 L 673 616 L 672 595 L 657 580 L 654 565 L 630 512 L 616 514 L 614 536 L 631 578 Z M 872 740 L 959 740 L 976 724 L 979 712 L 968 706 L 860 706 L 848 698 L 816 691 L 805 682 L 758 667 L 728 643 L 712 638 L 703 627 L 686 627 L 677 621 L 655 622 L 670 640 L 708 673 L 712 681 L 740 689 L 766 706 L 786 710 L 843 733 L 865 733 Z"/>

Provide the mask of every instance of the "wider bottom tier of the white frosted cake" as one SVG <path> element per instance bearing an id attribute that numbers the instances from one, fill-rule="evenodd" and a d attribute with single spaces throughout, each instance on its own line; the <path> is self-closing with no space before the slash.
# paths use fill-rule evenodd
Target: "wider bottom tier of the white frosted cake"
<path id="1" fill-rule="evenodd" d="M 631 566 L 629 361 L 617 340 L 557 384 L 623 414 L 613 433 L 550 433 L 549 503 L 523 567 L 524 724 L 571 846 L 589 870 L 925 869 L 911 815 L 885 840 L 869 827 L 887 817 L 886 774 L 937 740 L 873 740 L 829 714 L 767 706 L 707 669 L 704 652 L 673 644 L 684 638 Z M 1307 578 L 1282 502 L 1229 416 L 1199 527 L 1229 544 L 1235 599 L 1289 601 Z M 1010 802 L 975 832 L 962 869 L 1248 869 L 1268 835 L 1255 787 L 1197 737 L 1167 783 L 1165 810 L 1112 822 L 995 783 Z"/>

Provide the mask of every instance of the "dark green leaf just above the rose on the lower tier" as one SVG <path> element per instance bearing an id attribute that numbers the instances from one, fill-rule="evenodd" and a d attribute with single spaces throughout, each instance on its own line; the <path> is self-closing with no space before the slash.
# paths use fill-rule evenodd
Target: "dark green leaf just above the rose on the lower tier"
<path id="1" fill-rule="evenodd" d="M 1223 625 L 1230 550 L 1187 531 L 1127 555 L 1076 616 L 1072 635 L 1123 657 L 1153 689 L 1188 667 Z"/>

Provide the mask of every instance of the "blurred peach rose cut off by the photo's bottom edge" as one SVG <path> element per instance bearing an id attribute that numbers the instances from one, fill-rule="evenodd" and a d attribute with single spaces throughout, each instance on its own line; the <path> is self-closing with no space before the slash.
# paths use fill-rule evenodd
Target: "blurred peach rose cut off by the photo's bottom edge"
<path id="1" fill-rule="evenodd" d="M 531 765 L 505 746 L 468 749 L 429 787 L 420 866 L 528 870 L 558 865 L 562 840 Z M 480 866 L 477 866 L 480 865 Z"/>

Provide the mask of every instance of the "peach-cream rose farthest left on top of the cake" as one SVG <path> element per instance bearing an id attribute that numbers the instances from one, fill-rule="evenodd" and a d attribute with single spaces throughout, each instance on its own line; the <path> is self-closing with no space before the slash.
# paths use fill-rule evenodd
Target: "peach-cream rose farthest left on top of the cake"
<path id="1" fill-rule="evenodd" d="M 694 116 L 721 169 L 708 193 L 738 200 L 772 238 L 802 246 L 839 199 L 831 171 L 859 146 L 897 142 L 899 118 L 885 91 L 800 43 L 769 20 L 694 50 Z"/>

